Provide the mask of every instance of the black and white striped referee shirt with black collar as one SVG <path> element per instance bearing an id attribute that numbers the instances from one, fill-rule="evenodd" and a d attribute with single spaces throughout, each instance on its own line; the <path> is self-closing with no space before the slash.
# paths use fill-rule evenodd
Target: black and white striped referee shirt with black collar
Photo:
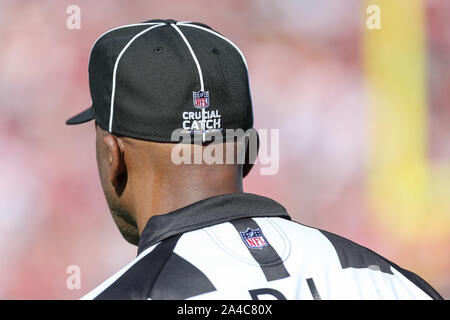
<path id="1" fill-rule="evenodd" d="M 82 299 L 442 298 L 373 251 L 239 193 L 151 217 L 138 256 Z"/>

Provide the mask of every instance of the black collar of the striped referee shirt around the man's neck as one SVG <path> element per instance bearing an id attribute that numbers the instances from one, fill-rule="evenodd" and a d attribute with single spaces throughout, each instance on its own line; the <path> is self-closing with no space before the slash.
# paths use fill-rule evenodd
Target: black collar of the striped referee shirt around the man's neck
<path id="1" fill-rule="evenodd" d="M 166 214 L 152 216 L 141 234 L 138 255 L 176 234 L 248 217 L 291 219 L 281 204 L 260 195 L 232 193 L 214 196 Z"/>

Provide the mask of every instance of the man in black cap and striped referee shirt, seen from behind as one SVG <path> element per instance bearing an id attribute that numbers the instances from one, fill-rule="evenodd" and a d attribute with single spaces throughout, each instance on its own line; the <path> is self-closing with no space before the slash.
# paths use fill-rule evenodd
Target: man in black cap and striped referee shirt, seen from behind
<path id="1" fill-rule="evenodd" d="M 218 32 L 174 20 L 112 29 L 92 48 L 89 80 L 92 107 L 67 123 L 95 119 L 102 187 L 138 255 L 85 299 L 441 299 L 369 249 L 243 192 L 255 137 L 246 62 Z M 247 144 L 219 139 L 239 129 Z M 233 161 L 178 161 L 217 146 Z"/>

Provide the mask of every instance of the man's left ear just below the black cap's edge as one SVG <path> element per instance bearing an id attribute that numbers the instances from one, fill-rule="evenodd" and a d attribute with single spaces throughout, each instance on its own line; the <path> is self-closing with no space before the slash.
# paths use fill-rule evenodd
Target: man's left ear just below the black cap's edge
<path id="1" fill-rule="evenodd" d="M 116 192 L 120 195 L 127 181 L 127 167 L 125 165 L 123 145 L 112 134 L 103 137 L 103 141 L 108 147 L 109 179 Z"/>

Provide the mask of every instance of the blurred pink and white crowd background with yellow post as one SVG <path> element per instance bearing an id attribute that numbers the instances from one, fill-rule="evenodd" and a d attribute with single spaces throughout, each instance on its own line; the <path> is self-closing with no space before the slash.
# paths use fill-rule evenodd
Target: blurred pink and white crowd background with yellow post
<path id="1" fill-rule="evenodd" d="M 450 298 L 450 2 L 388 1 L 0 0 L 0 298 L 77 299 L 135 257 L 101 190 L 93 124 L 64 121 L 90 105 L 97 37 L 154 18 L 208 24 L 245 54 L 255 127 L 280 129 L 279 172 L 257 165 L 245 191 Z M 70 265 L 81 289 L 66 287 Z"/>

